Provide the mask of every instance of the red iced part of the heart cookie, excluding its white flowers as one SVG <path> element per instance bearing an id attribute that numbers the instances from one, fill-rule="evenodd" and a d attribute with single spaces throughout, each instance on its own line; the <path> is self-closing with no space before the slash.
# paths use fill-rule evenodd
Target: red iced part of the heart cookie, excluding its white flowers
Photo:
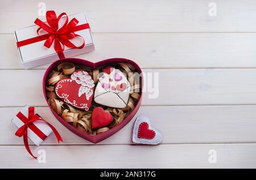
<path id="1" fill-rule="evenodd" d="M 76 72 L 85 72 L 85 71 L 76 70 L 74 73 Z M 71 77 L 73 76 L 73 74 L 71 75 Z M 88 76 L 89 78 L 91 78 L 90 75 Z M 75 79 L 79 80 L 79 78 L 76 78 L 75 76 L 73 76 L 73 79 L 67 78 L 67 79 L 59 80 L 59 82 L 55 84 L 56 95 L 64 102 L 72 106 L 75 106 L 76 108 L 87 111 L 89 110 L 90 104 L 92 102 L 94 87 L 88 88 L 86 86 L 83 86 L 81 84 L 82 83 L 81 80 L 79 80 L 79 82 L 76 82 Z M 91 81 L 92 81 L 91 85 L 94 85 L 93 80 Z M 83 93 L 79 93 L 83 90 L 82 88 L 88 88 L 88 89 L 84 89 Z M 86 95 L 88 91 L 91 91 L 90 96 Z"/>

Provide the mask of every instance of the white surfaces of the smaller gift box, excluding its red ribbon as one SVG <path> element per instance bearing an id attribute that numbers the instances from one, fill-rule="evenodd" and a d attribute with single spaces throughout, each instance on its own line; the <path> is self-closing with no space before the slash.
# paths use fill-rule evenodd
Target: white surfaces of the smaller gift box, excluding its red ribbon
<path id="1" fill-rule="evenodd" d="M 20 110 L 20 113 L 22 113 L 27 118 L 28 118 L 28 108 L 29 106 L 26 105 L 24 106 L 24 108 L 22 108 L 22 110 Z M 36 110 L 34 111 L 34 114 L 36 114 Z M 16 116 L 11 120 L 11 122 L 13 122 L 18 128 L 24 125 L 23 121 Z M 47 123 L 43 121 L 35 121 L 32 123 L 36 127 L 38 127 L 39 130 L 42 131 L 43 134 L 45 134 L 46 136 L 49 136 L 52 133 L 52 129 L 47 125 Z M 40 145 L 44 141 L 43 139 L 39 138 L 39 136 L 36 135 L 35 132 L 31 130 L 30 127 L 27 128 L 27 136 L 36 145 Z"/>

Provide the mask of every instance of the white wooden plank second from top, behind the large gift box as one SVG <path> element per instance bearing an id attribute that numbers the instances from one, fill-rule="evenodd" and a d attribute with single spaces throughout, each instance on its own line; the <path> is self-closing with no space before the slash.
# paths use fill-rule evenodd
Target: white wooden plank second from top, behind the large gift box
<path id="1" fill-rule="evenodd" d="M 255 33 L 94 33 L 93 36 L 96 50 L 78 58 L 96 62 L 125 57 L 142 68 L 256 67 Z M 0 38 L 3 59 L 0 68 L 24 69 L 14 35 Z"/>

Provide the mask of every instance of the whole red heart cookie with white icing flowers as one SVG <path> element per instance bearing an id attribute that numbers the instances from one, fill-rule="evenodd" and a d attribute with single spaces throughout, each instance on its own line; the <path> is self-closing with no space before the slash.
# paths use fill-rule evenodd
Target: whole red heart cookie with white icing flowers
<path id="1" fill-rule="evenodd" d="M 89 110 L 93 98 L 94 82 L 92 76 L 83 70 L 76 70 L 67 79 L 55 84 L 56 95 L 76 108 Z"/>

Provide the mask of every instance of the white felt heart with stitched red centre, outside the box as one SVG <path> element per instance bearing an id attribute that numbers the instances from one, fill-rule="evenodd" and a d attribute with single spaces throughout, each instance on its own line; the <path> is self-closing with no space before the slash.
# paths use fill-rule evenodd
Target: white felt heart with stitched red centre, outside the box
<path id="1" fill-rule="evenodd" d="M 162 134 L 150 126 L 150 119 L 139 115 L 134 122 L 133 142 L 138 144 L 156 145 L 162 142 Z"/>

